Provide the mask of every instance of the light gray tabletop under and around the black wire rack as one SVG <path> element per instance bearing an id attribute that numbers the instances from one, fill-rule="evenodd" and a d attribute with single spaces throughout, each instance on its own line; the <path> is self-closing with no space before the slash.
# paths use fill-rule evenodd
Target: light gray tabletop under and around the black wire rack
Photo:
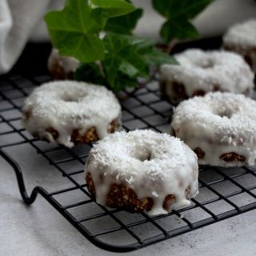
<path id="1" fill-rule="evenodd" d="M 24 83 L 19 82 L 22 90 L 30 92 L 33 88 L 31 87 L 29 81 L 25 80 Z M 157 82 L 150 82 L 148 88 L 150 90 L 158 90 Z M 15 104 L 22 106 L 23 97 L 18 90 L 10 90 L 11 86 L 6 84 L 2 87 L 2 90 L 6 90 L 4 94 L 16 99 L 13 99 Z M 144 89 L 142 89 L 141 93 Z M 157 109 L 161 111 L 164 115 L 170 115 L 170 105 L 164 101 L 158 102 L 158 93 L 156 94 L 138 94 L 138 98 L 142 102 L 150 105 L 152 109 Z M 155 102 L 157 101 L 157 102 Z M 169 125 L 163 124 L 163 120 L 159 115 L 152 115 L 152 110 L 149 107 L 142 107 L 141 104 L 134 100 L 133 98 L 126 99 L 126 104 L 130 106 L 131 112 L 138 115 L 146 115 L 142 118 L 142 121 L 151 123 L 153 126 L 157 126 L 158 129 L 162 131 L 168 131 Z M 10 107 L 8 102 L 2 102 L 0 109 L 5 109 Z M 21 113 L 18 110 L 3 111 L 2 116 L 4 118 L 15 118 L 20 117 Z M 130 129 L 145 128 L 146 123 L 141 120 L 131 120 L 131 115 L 126 111 L 122 113 L 122 119 L 124 124 Z M 166 122 L 166 121 L 165 121 Z M 19 121 L 11 122 L 17 129 L 22 128 Z M 3 131 L 10 130 L 10 127 L 6 125 L 0 126 L 0 133 Z M 28 138 L 31 138 L 29 134 L 25 131 L 22 132 Z M 0 145 L 9 142 L 19 142 L 22 138 L 18 134 L 9 134 L 0 136 Z M 46 142 L 35 142 L 37 146 L 42 147 L 54 147 Z M 85 150 L 88 147 L 76 147 L 75 152 L 81 152 L 85 154 Z M 4 147 L 4 150 L 10 154 L 21 166 L 23 174 L 25 176 L 26 186 L 30 192 L 34 186 L 43 186 L 46 190 L 60 190 L 72 185 L 66 178 L 62 178 L 61 174 L 55 170 L 54 166 L 50 166 L 45 158 L 37 154 L 32 146 L 28 143 L 24 143 L 18 146 Z M 55 151 L 50 153 L 50 158 L 57 160 L 65 158 L 65 151 Z M 73 164 L 73 162 L 66 162 L 62 164 L 62 169 L 71 170 L 82 170 L 83 166 Z M 34 256 L 34 255 L 49 255 L 49 256 L 61 256 L 61 255 L 72 255 L 72 256 L 82 256 L 82 255 L 112 255 L 114 253 L 107 252 L 105 250 L 98 249 L 86 238 L 82 237 L 77 230 L 75 230 L 66 219 L 62 218 L 52 206 L 49 205 L 40 196 L 34 202 L 32 206 L 26 206 L 18 193 L 18 186 L 16 178 L 14 176 L 14 171 L 0 157 L 0 170 L 1 170 L 1 186 L 0 186 L 0 255 L 9 256 Z M 241 170 L 240 170 L 241 171 Z M 239 170 L 226 170 L 227 175 L 239 172 Z M 206 182 L 213 180 L 214 171 L 205 171 L 202 173 L 201 178 Z M 73 176 L 74 177 L 74 176 Z M 82 174 L 75 175 L 76 180 L 80 183 L 83 182 Z M 216 178 L 216 177 L 215 177 Z M 251 177 L 249 174 L 242 175 L 237 179 L 237 182 L 242 186 L 254 186 L 255 178 Z M 229 194 L 231 192 L 237 191 L 238 186 L 234 184 L 228 184 L 227 182 L 218 183 L 214 188 L 222 194 Z M 61 194 L 57 199 L 63 205 L 80 202 L 85 200 L 85 194 Z M 255 190 L 252 190 L 255 193 Z M 238 204 L 238 206 L 245 205 L 249 202 L 255 202 L 255 198 L 241 195 L 234 196 L 230 198 Z M 198 194 L 197 200 L 202 202 L 202 198 L 213 198 L 216 194 L 210 193 L 209 190 L 201 190 Z M 75 200 L 75 201 L 74 201 Z M 202 200 L 202 201 L 201 201 Z M 95 206 L 95 205 L 94 205 Z M 207 205 L 210 210 L 214 211 L 215 214 L 220 212 L 230 210 L 230 205 L 224 204 L 222 201 L 217 203 L 212 203 Z M 88 205 L 86 208 L 81 210 L 74 209 L 76 212 L 74 214 L 90 214 Z M 186 218 L 190 219 L 191 222 L 196 222 L 201 218 L 208 218 L 206 212 L 200 211 L 200 208 L 195 208 L 195 210 L 189 210 L 182 212 Z M 193 253 L 197 255 L 254 255 L 256 251 L 256 238 L 255 238 L 255 212 L 256 210 L 250 211 L 249 213 L 239 215 L 238 217 L 230 218 L 224 222 L 219 222 L 211 226 L 206 226 L 200 230 L 192 231 L 188 234 L 180 235 L 176 238 L 169 239 L 165 242 L 159 242 L 154 246 L 146 247 L 142 250 L 127 253 L 125 255 L 155 255 L 160 254 L 163 256 L 167 255 L 191 255 Z M 202 215 L 205 214 L 205 215 Z M 128 218 L 138 218 L 134 214 L 123 214 L 125 221 L 129 221 Z M 78 217 L 79 218 L 79 217 Z M 169 219 L 164 218 L 163 223 L 166 227 L 171 226 L 173 222 L 168 222 Z M 174 222 L 177 224 L 177 222 Z M 90 228 L 92 230 L 101 229 L 109 222 L 93 222 L 90 223 Z M 152 226 L 151 226 L 152 227 Z M 139 230 L 137 227 L 137 232 L 140 232 L 142 236 L 152 234 L 155 230 L 151 227 L 143 227 L 143 230 Z M 110 241 L 124 242 L 126 239 L 122 236 L 117 236 L 112 238 Z"/>

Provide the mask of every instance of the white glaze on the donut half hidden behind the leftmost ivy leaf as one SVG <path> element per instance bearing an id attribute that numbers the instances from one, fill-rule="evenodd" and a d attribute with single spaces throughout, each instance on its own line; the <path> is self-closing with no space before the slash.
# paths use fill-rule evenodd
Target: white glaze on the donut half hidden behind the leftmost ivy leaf
<path id="1" fill-rule="evenodd" d="M 78 68 L 79 62 L 76 58 L 61 56 L 57 49 L 51 51 L 48 58 L 48 69 L 54 72 L 55 66 L 60 67 L 65 74 L 73 73 Z"/>

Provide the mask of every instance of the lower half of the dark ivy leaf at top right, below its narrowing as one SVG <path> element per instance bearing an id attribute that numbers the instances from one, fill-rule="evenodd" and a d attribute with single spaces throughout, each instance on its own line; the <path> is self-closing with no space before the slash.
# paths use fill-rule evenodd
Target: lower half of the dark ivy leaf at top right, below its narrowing
<path id="1" fill-rule="evenodd" d="M 166 42 L 170 42 L 174 38 L 194 39 L 200 37 L 198 30 L 186 21 L 167 21 L 163 24 L 160 34 Z"/>

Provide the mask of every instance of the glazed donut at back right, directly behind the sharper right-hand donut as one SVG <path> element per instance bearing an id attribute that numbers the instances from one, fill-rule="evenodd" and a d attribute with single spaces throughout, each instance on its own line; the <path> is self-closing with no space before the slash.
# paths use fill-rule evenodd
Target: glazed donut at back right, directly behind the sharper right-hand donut
<path id="1" fill-rule="evenodd" d="M 238 54 L 191 49 L 174 58 L 180 65 L 160 67 L 160 90 L 174 104 L 211 91 L 252 93 L 254 74 Z"/>

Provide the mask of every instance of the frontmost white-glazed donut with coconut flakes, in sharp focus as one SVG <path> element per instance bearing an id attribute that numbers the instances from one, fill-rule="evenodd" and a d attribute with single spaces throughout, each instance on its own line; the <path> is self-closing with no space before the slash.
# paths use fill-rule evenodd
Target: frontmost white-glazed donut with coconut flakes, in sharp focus
<path id="1" fill-rule="evenodd" d="M 152 130 L 116 132 L 94 144 L 85 177 L 96 202 L 133 213 L 166 214 L 198 194 L 196 154 Z"/>

